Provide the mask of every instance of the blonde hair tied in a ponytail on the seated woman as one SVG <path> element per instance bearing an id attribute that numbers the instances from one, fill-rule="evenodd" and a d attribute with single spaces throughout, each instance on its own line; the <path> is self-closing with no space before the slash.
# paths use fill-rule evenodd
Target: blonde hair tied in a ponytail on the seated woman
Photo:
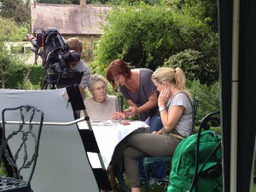
<path id="1" fill-rule="evenodd" d="M 186 76 L 180 67 L 175 69 L 171 67 L 161 67 L 153 73 L 152 79 L 159 84 L 162 84 L 164 81 L 175 84 L 177 90 L 184 91 L 191 99 L 191 94 L 189 93 L 189 90 L 186 89 L 185 85 Z"/>

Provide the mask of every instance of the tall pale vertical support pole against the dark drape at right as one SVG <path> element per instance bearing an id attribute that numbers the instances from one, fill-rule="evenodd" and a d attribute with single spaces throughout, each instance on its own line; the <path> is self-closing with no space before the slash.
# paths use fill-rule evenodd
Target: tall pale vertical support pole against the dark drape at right
<path id="1" fill-rule="evenodd" d="M 236 192 L 240 0 L 233 2 L 230 191 Z"/>

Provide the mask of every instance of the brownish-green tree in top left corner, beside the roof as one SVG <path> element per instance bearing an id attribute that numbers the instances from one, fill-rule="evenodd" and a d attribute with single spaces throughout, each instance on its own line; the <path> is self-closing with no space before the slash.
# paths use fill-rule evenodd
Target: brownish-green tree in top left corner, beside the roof
<path id="1" fill-rule="evenodd" d="M 3 18 L 14 19 L 18 24 L 30 22 L 30 1 L 0 0 L 0 15 Z"/>

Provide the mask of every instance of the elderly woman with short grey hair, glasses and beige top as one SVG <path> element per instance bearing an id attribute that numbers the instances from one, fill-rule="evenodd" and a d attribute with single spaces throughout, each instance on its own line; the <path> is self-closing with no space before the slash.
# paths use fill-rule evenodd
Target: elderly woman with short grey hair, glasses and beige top
<path id="1" fill-rule="evenodd" d="M 107 81 L 102 75 L 91 75 L 88 83 L 91 96 L 84 99 L 84 106 L 90 120 L 111 119 L 113 112 L 119 111 L 117 96 L 108 96 Z M 84 113 L 81 113 L 84 117 Z"/>

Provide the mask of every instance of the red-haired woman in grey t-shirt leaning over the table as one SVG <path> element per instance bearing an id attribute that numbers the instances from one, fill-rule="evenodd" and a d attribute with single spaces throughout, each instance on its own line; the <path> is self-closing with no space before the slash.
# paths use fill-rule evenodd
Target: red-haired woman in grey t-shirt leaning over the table
<path id="1" fill-rule="evenodd" d="M 113 89 L 119 89 L 129 108 L 124 113 L 113 113 L 113 119 L 123 119 L 134 117 L 145 121 L 149 127 L 149 132 L 159 131 L 163 125 L 160 119 L 160 112 L 157 105 L 158 93 L 151 79 L 153 71 L 148 68 L 131 69 L 128 62 L 116 59 L 108 65 L 107 79 L 112 84 Z M 142 163 L 140 165 L 140 176 L 143 179 L 144 172 Z M 163 180 L 166 177 L 166 165 L 164 162 L 154 163 L 152 177 L 154 180 Z"/>

